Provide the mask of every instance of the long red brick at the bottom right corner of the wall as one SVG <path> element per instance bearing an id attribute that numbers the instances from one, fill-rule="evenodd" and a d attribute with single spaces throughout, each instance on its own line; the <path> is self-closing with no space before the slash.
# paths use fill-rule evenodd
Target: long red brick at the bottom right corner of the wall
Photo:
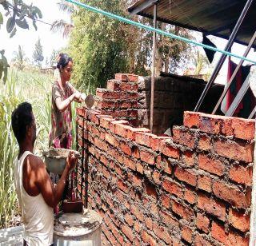
<path id="1" fill-rule="evenodd" d="M 225 228 L 222 225 L 217 224 L 215 222 L 213 222 L 212 225 L 211 235 L 216 240 L 225 245 L 247 246 L 249 244 L 248 238 L 242 238 L 242 236 L 239 236 L 238 234 L 232 232 L 225 232 Z"/>

